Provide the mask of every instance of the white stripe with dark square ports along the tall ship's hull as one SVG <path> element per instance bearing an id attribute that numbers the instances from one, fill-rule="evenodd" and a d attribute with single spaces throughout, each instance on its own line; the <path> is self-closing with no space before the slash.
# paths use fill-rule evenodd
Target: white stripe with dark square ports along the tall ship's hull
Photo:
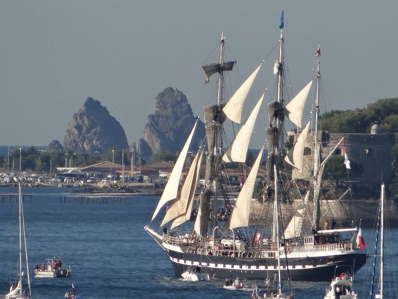
<path id="1" fill-rule="evenodd" d="M 192 262 L 192 261 L 185 261 L 177 258 L 170 257 L 172 262 L 177 264 L 192 266 L 192 265 L 201 265 L 207 268 L 214 268 L 214 269 L 242 269 L 242 270 L 257 270 L 257 271 L 265 271 L 265 270 L 276 270 L 278 269 L 277 266 L 246 266 L 246 265 L 229 265 L 229 264 L 214 264 L 214 263 L 205 263 L 205 262 Z M 296 265 L 296 266 L 289 266 L 289 270 L 298 270 L 298 269 L 311 269 L 311 268 L 321 268 L 321 267 L 328 267 L 330 265 L 318 265 L 314 267 L 313 265 Z M 281 270 L 286 269 L 286 266 L 282 266 Z"/>

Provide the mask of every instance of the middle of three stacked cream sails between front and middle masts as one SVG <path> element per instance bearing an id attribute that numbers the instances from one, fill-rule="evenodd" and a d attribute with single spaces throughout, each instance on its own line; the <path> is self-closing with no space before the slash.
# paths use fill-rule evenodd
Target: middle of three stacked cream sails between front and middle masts
<path id="1" fill-rule="evenodd" d="M 240 128 L 238 134 L 234 141 L 231 143 L 230 147 L 226 150 L 222 156 L 222 161 L 224 162 L 244 162 L 246 161 L 246 154 L 249 148 L 250 137 L 252 136 L 254 123 L 256 122 L 258 110 L 260 109 L 261 103 L 263 102 L 264 94 L 258 100 L 256 106 L 250 116 L 246 120 L 245 124 Z"/>

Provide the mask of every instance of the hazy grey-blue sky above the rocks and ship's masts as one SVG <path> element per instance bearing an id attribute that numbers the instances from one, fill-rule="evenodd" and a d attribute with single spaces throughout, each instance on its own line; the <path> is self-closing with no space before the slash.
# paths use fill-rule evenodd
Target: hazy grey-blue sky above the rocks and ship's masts
<path id="1" fill-rule="evenodd" d="M 203 120 L 211 84 L 204 84 L 199 65 L 221 31 L 238 60 L 239 82 L 269 55 L 247 100 L 252 107 L 273 78 L 282 10 L 293 93 L 312 79 L 319 43 L 321 112 L 397 97 L 397 8 L 396 0 L 3 0 L 0 145 L 62 144 L 88 96 L 121 123 L 129 144 L 142 135 L 166 87 L 181 90 Z M 264 117 L 269 100 L 266 95 Z M 260 122 L 261 133 L 265 119 Z"/>

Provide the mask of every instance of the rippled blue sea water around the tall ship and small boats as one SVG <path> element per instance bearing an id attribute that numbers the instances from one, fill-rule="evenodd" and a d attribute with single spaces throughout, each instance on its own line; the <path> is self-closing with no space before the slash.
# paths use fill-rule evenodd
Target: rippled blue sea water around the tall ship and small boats
<path id="1" fill-rule="evenodd" d="M 63 203 L 60 196 L 70 189 L 22 188 L 27 252 L 32 293 L 35 299 L 62 299 L 72 283 L 82 299 L 108 298 L 250 298 L 246 291 L 223 289 L 224 281 L 187 282 L 174 276 L 164 251 L 144 231 L 158 197 L 136 196 L 130 203 Z M 0 193 L 18 193 L 18 188 L 1 187 Z M 18 273 L 18 201 L 6 196 L 0 202 L 0 294 L 10 287 Z M 394 235 L 397 230 L 393 232 Z M 374 232 L 363 230 L 367 251 L 373 254 Z M 390 239 L 389 239 L 390 240 Z M 388 241 L 393 257 L 386 261 L 390 277 L 398 275 L 396 244 Z M 35 278 L 35 264 L 62 256 L 70 264 L 71 278 Z M 24 262 L 24 261 L 23 261 Z M 370 258 L 354 277 L 358 298 L 369 297 Z M 26 274 L 24 274 L 25 276 Z M 332 277 L 331 277 L 332 278 Z M 245 281 L 246 285 L 263 281 Z M 288 282 L 284 283 L 287 291 Z M 323 298 L 328 282 L 292 282 L 296 298 Z M 393 285 L 386 298 L 396 298 Z"/>

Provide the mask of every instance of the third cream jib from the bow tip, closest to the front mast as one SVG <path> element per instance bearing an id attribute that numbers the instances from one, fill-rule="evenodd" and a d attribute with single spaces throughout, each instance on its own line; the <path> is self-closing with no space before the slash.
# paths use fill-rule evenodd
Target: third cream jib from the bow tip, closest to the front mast
<path id="1" fill-rule="evenodd" d="M 199 155 L 199 159 L 198 159 L 198 155 Z M 188 221 L 191 218 L 193 197 L 195 196 L 195 189 L 196 189 L 196 184 L 197 184 L 197 181 L 198 181 L 198 178 L 199 178 L 199 171 L 200 171 L 200 165 L 201 165 L 202 157 L 203 157 L 203 151 L 200 151 L 200 153 L 198 152 L 196 154 L 196 157 L 195 157 L 194 161 L 192 161 L 191 169 L 189 169 L 189 172 L 191 172 L 191 170 L 192 170 L 193 175 L 190 175 L 189 173 L 187 175 L 187 177 L 188 176 L 190 177 L 189 178 L 190 182 L 187 182 L 187 184 L 189 183 L 191 185 L 191 188 L 189 189 L 189 194 L 186 195 L 187 200 L 184 201 L 185 207 L 182 207 L 183 213 L 181 213 L 179 216 L 174 218 L 173 223 L 170 226 L 170 229 L 173 229 L 176 226 L 179 226 L 180 224 L 184 223 L 185 221 Z M 182 186 L 181 186 L 181 188 L 182 188 Z M 182 196 L 183 195 L 182 195 L 182 192 L 181 192 L 180 201 L 183 200 Z M 182 205 L 182 203 L 181 203 L 181 205 Z"/>

